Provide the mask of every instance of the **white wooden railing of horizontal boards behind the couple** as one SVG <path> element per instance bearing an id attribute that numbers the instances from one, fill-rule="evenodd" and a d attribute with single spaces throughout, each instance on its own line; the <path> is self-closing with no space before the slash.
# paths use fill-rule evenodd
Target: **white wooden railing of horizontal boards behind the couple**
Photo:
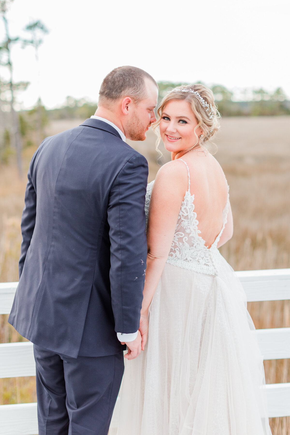
<path id="1" fill-rule="evenodd" d="M 290 299 L 290 269 L 237 272 L 247 301 Z M 0 314 L 10 313 L 17 282 L 0 283 Z M 290 328 L 258 329 L 257 337 L 265 359 L 290 358 Z M 0 344 L 0 378 L 34 376 L 33 345 Z M 290 415 L 290 383 L 265 386 L 270 417 Z M 37 404 L 0 406 L 0 435 L 37 434 Z"/>

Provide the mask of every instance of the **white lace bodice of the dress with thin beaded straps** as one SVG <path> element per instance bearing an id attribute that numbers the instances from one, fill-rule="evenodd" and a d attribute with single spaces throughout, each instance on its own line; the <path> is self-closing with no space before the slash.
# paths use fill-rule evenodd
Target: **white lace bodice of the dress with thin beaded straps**
<path id="1" fill-rule="evenodd" d="M 187 167 L 188 190 L 184 195 L 178 215 L 175 234 L 171 244 L 167 263 L 180 268 L 190 269 L 196 272 L 206 273 L 217 276 L 220 264 L 220 252 L 217 244 L 227 223 L 227 213 L 229 210 L 229 193 L 227 194 L 227 204 L 223 209 L 223 226 L 220 233 L 210 248 L 205 246 L 205 241 L 200 237 L 198 229 L 197 214 L 194 211 L 194 194 L 190 194 L 190 173 L 187 163 L 182 160 Z M 148 222 L 149 203 L 154 181 L 147 185 L 145 200 L 146 225 Z"/>

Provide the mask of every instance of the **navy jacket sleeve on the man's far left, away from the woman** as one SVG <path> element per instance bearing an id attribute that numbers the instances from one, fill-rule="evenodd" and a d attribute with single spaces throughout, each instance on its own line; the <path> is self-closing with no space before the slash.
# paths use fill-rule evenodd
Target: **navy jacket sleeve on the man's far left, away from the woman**
<path id="1" fill-rule="evenodd" d="M 19 278 L 23 271 L 28 248 L 30 247 L 30 241 L 33 235 L 36 219 L 36 191 L 32 183 L 30 169 L 31 165 L 27 174 L 28 181 L 25 191 L 25 205 L 21 218 L 22 243 L 19 259 Z"/>

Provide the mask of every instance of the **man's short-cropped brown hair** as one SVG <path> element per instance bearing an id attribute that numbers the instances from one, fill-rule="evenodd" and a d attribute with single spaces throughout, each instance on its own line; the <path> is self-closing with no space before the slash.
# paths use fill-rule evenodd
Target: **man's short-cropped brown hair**
<path id="1" fill-rule="evenodd" d="M 137 67 L 118 67 L 112 70 L 100 87 L 99 106 L 110 105 L 122 97 L 130 97 L 135 103 L 147 97 L 144 78 L 158 85 L 150 74 Z"/>

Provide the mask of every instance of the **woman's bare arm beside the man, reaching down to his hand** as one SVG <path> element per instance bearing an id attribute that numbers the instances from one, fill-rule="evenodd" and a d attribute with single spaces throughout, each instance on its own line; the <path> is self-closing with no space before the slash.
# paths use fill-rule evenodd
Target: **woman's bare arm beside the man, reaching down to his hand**
<path id="1" fill-rule="evenodd" d="M 148 308 L 170 251 L 187 187 L 187 170 L 182 162 L 169 162 L 158 171 L 150 198 L 147 226 L 147 270 L 141 309 L 141 323 L 143 322 L 144 329 Z M 142 335 L 146 334 L 142 340 L 143 349 L 147 331 L 142 330 L 142 327 L 140 329 Z"/>

